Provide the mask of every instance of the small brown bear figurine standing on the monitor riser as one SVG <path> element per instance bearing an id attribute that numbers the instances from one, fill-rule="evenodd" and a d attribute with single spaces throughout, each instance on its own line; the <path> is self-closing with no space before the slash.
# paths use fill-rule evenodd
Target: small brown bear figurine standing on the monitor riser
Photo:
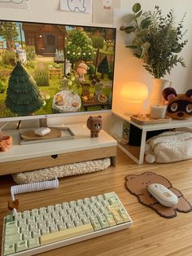
<path id="1" fill-rule="evenodd" d="M 98 137 L 99 131 L 103 129 L 102 117 L 101 116 L 98 116 L 98 117 L 90 116 L 87 119 L 87 128 L 90 130 L 91 138 Z"/>

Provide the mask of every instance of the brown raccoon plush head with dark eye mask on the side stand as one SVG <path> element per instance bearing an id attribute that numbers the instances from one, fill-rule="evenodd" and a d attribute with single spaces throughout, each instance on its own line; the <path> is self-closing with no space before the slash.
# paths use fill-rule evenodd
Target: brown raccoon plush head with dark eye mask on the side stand
<path id="1" fill-rule="evenodd" d="M 174 88 L 168 87 L 163 90 L 162 95 L 168 101 L 168 117 L 181 120 L 192 117 L 192 89 L 187 90 L 185 94 L 177 95 Z"/>

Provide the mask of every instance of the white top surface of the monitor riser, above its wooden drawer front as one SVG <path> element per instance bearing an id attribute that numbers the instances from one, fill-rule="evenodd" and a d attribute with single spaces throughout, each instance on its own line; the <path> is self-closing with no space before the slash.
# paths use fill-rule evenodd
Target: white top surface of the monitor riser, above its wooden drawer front
<path id="1" fill-rule="evenodd" d="M 11 135 L 13 145 L 7 152 L 0 152 L 0 163 L 18 161 L 35 157 L 46 157 L 65 152 L 78 152 L 93 148 L 107 148 L 116 146 L 117 142 L 104 130 L 99 132 L 98 138 L 90 138 L 90 131 L 85 124 L 68 125 L 75 135 L 74 139 L 58 140 L 20 145 L 19 131 L 4 131 L 3 135 Z"/>

